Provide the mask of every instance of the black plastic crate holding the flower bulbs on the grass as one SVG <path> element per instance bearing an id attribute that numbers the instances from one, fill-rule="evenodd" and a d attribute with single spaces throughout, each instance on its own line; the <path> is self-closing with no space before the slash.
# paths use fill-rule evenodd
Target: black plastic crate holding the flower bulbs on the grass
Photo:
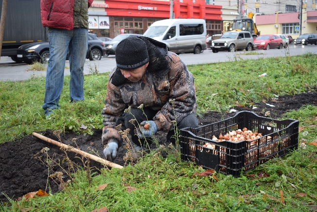
<path id="1" fill-rule="evenodd" d="M 218 137 L 220 133 L 225 135 L 244 127 L 263 136 L 238 142 L 211 139 L 213 135 Z M 294 148 L 297 150 L 298 136 L 298 120 L 277 120 L 241 111 L 231 118 L 199 128 L 181 129 L 181 159 L 239 177 L 243 168 L 246 173 L 271 158 L 288 154 Z M 214 145 L 214 149 L 204 147 L 205 143 Z"/>

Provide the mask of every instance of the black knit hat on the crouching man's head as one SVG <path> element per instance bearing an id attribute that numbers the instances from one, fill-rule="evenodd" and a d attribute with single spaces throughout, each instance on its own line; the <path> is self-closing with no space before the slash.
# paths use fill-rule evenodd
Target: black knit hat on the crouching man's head
<path id="1" fill-rule="evenodd" d="M 117 67 L 123 70 L 140 68 L 149 62 L 146 44 L 137 37 L 123 39 L 116 49 Z"/>

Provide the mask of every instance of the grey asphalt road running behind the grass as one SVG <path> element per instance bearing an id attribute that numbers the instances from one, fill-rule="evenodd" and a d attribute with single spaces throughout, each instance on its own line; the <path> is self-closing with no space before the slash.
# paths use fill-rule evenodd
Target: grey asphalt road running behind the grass
<path id="1" fill-rule="evenodd" d="M 255 55 L 244 55 L 245 51 L 218 52 L 212 53 L 210 49 L 205 50 L 201 54 L 180 54 L 179 57 L 186 65 L 226 62 L 234 61 L 235 59 L 259 59 L 268 57 L 285 57 L 302 55 L 305 53 L 317 54 L 317 45 L 294 45 L 290 44 L 287 49 L 269 49 L 269 50 L 254 50 Z M 69 61 L 66 60 L 66 69 L 64 75 L 70 75 Z M 102 58 L 101 60 L 90 61 L 86 59 L 84 66 L 84 74 L 92 74 L 97 69 L 98 73 L 110 72 L 116 66 L 115 56 Z M 32 71 L 31 66 L 25 63 L 16 63 L 9 57 L 0 58 L 0 81 L 20 81 L 26 80 L 34 76 L 46 76 L 46 71 Z"/>

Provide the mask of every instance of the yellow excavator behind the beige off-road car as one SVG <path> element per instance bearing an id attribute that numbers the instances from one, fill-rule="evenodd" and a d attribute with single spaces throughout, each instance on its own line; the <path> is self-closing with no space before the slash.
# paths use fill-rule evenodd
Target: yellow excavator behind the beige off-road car
<path id="1" fill-rule="evenodd" d="M 233 20 L 231 31 L 248 31 L 251 33 L 253 39 L 260 35 L 260 31 L 256 28 L 253 20 L 254 13 L 249 12 L 247 18 L 239 18 Z"/>

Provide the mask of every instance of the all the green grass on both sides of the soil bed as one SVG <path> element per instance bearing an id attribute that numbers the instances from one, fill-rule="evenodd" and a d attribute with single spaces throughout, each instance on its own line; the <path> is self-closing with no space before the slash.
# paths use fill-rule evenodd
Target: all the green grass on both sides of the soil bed
<path id="1" fill-rule="evenodd" d="M 316 62 L 316 55 L 305 54 L 188 66 L 195 77 L 198 112 L 226 111 L 236 104 L 252 107 L 274 95 L 302 93 L 317 85 Z M 258 77 L 263 73 L 267 76 Z M 85 76 L 85 101 L 76 104 L 69 103 L 69 77 L 65 77 L 61 108 L 50 120 L 45 119 L 41 108 L 44 77 L 0 82 L 0 143 L 45 129 L 90 134 L 93 128 L 101 128 L 107 76 Z M 317 139 L 316 107 L 307 105 L 284 118 L 299 120 L 299 142 L 302 138 L 307 142 Z M 80 129 L 81 124 L 88 126 L 87 130 Z M 89 212 L 102 207 L 111 212 L 317 210 L 317 147 L 313 145 L 272 159 L 248 172 L 250 176 L 241 174 L 239 178 L 220 173 L 215 177 L 192 177 L 205 170 L 194 164 L 176 163 L 175 154 L 162 158 L 154 156 L 156 153 L 153 151 L 140 163 L 122 170 L 104 169 L 91 182 L 85 171 L 78 171 L 63 191 L 29 201 L 11 201 L 0 205 L 0 211 Z M 269 176 L 252 177 L 259 172 Z M 95 190 L 102 184 L 107 184 L 104 190 Z M 127 186 L 137 189 L 129 193 Z M 281 202 L 281 191 L 285 203 Z"/>

